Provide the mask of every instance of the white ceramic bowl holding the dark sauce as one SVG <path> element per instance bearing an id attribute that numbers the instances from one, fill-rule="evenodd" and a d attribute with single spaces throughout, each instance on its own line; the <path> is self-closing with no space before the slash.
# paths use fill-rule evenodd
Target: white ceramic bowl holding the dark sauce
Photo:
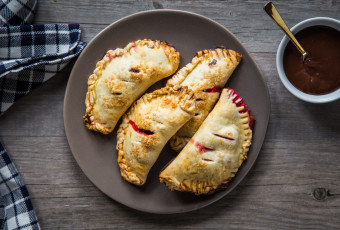
<path id="1" fill-rule="evenodd" d="M 333 19 L 333 18 L 326 18 L 326 17 L 317 17 L 317 18 L 310 18 L 310 19 L 304 20 L 296 24 L 293 28 L 291 28 L 291 31 L 293 34 L 296 34 L 302 29 L 305 29 L 310 26 L 316 26 L 316 25 L 329 26 L 340 31 L 340 21 Z M 297 98 L 307 101 L 307 102 L 311 102 L 311 103 L 327 103 L 327 102 L 331 102 L 331 101 L 335 101 L 339 99 L 340 89 L 329 94 L 311 95 L 311 94 L 302 92 L 301 90 L 295 88 L 295 86 L 292 83 L 290 83 L 283 69 L 283 54 L 288 44 L 288 41 L 289 41 L 289 38 L 287 36 L 284 36 L 279 45 L 279 48 L 277 49 L 276 68 L 277 68 L 277 71 L 279 73 L 279 76 L 280 76 L 280 79 L 283 85 L 289 90 L 289 92 L 291 92 Z"/>

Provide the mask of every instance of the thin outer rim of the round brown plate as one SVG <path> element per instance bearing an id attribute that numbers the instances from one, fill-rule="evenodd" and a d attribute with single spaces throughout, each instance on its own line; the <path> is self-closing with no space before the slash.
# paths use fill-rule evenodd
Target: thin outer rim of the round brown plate
<path id="1" fill-rule="evenodd" d="M 89 176 L 85 170 L 83 169 L 83 167 L 81 166 L 81 164 L 79 163 L 79 159 L 78 157 L 73 153 L 73 149 L 72 149 L 72 146 L 69 142 L 69 135 L 68 134 L 68 128 L 66 126 L 66 119 L 65 117 L 67 116 L 66 115 L 66 101 L 67 101 L 67 98 L 69 98 L 69 94 L 70 94 L 70 80 L 72 78 L 72 76 L 74 75 L 74 69 L 75 67 L 78 65 L 79 63 L 79 59 L 80 57 L 82 57 L 84 55 L 84 51 L 89 47 L 91 46 L 91 44 L 93 42 L 95 42 L 95 40 L 101 36 L 102 33 L 105 33 L 107 30 L 110 30 L 111 27 L 114 27 L 116 24 L 119 24 L 123 21 L 126 21 L 126 20 L 129 20 L 130 18 L 133 18 L 135 16 L 140 16 L 140 15 L 145 15 L 145 14 L 152 14 L 152 13 L 159 13 L 159 12 L 164 12 L 164 13 L 180 13 L 180 14 L 185 14 L 185 15 L 190 15 L 190 16 L 195 16 L 195 17 L 199 17 L 201 19 L 204 19 L 206 21 L 209 21 L 210 23 L 213 23 L 215 24 L 216 26 L 218 26 L 221 30 L 224 30 L 226 31 L 227 33 L 229 33 L 231 36 L 233 36 L 233 38 L 239 43 L 239 45 L 247 52 L 247 54 L 250 56 L 251 58 L 251 62 L 253 62 L 255 68 L 257 69 L 257 71 L 259 72 L 259 75 L 260 75 L 260 78 L 261 81 L 263 82 L 263 85 L 265 86 L 265 94 L 266 94 L 266 97 L 268 98 L 268 106 L 266 107 L 267 109 L 267 117 L 266 117 L 266 124 L 265 124 L 265 132 L 264 132 L 264 135 L 263 137 L 261 138 L 261 140 L 258 140 L 260 143 L 261 143 L 261 147 L 258 151 L 258 153 L 256 154 L 255 158 L 254 158 L 254 161 L 253 162 L 250 162 L 250 167 L 248 167 L 245 171 L 244 171 L 244 175 L 242 178 L 240 178 L 239 182 L 236 183 L 236 184 L 233 184 L 231 187 L 228 187 L 228 188 L 231 188 L 228 192 L 224 192 L 222 195 L 220 196 L 216 196 L 215 198 L 209 200 L 207 203 L 199 206 L 199 207 L 192 207 L 190 209 L 185 209 L 185 210 L 177 210 L 177 211 L 164 211 L 164 212 L 155 212 L 153 210 L 150 210 L 148 208 L 135 208 L 135 207 L 132 207 L 130 206 L 129 204 L 126 204 L 125 202 L 122 202 L 120 200 L 117 200 L 115 198 L 113 198 L 112 196 L 108 195 L 106 192 L 104 192 L 96 183 L 95 180 L 93 180 L 91 178 L 91 176 Z M 194 13 L 194 12 L 190 12 L 190 11 L 184 11 L 184 10 L 177 10 L 177 9 L 154 9 L 154 10 L 145 10 L 145 11 L 140 11 L 140 12 L 137 12 L 137 13 L 133 13 L 133 14 L 129 14 L 127 16 L 124 16 L 114 22 L 112 22 L 111 24 L 107 25 L 104 29 L 102 29 L 99 33 L 97 33 L 92 39 L 90 42 L 88 42 L 87 46 L 84 48 L 83 52 L 79 55 L 79 57 L 77 58 L 76 62 L 74 63 L 73 67 L 72 67 L 72 71 L 70 73 L 70 76 L 69 76 L 69 79 L 67 81 L 67 86 L 66 86 L 66 90 L 65 90 L 65 96 L 64 96 L 64 104 L 63 104 L 63 120 L 64 120 L 64 129 L 65 129 L 65 135 L 66 135 L 66 139 L 67 139 L 67 143 L 70 147 L 70 150 L 71 150 L 71 153 L 72 153 L 72 156 L 73 158 L 76 160 L 77 162 L 77 165 L 79 166 L 79 168 L 81 169 L 81 171 L 85 174 L 85 176 L 87 177 L 87 179 L 89 179 L 89 181 L 91 181 L 91 183 L 93 183 L 97 189 L 99 189 L 102 193 L 104 193 L 106 196 L 108 196 L 110 199 L 114 200 L 115 202 L 117 203 L 120 203 L 120 204 L 123 204 L 124 206 L 126 207 L 129 207 L 133 210 L 137 210 L 137 211 L 142 211 L 142 212 L 146 212 L 146 213 L 152 213 L 152 214 L 160 214 L 160 215 L 164 215 L 164 214 L 179 214 L 179 213 L 187 213 L 187 212 L 192 212 L 192 211 L 195 211 L 195 210 L 198 210 L 198 209 L 201 209 L 201 208 L 204 208 L 204 207 L 207 207 L 213 203 L 215 203 L 216 201 L 224 198 L 227 194 L 229 194 L 230 192 L 232 192 L 234 190 L 235 187 L 237 187 L 243 180 L 244 178 L 248 175 L 250 169 L 252 169 L 253 165 L 255 164 L 258 156 L 260 155 L 260 152 L 261 152 L 261 149 L 263 147 L 263 144 L 264 144 L 264 140 L 267 136 L 267 131 L 268 131 L 268 125 L 269 125 L 269 121 L 270 121 L 270 112 L 271 112 L 271 100 L 270 100 L 270 94 L 269 94 L 269 89 L 268 89 L 268 85 L 265 81 L 265 78 L 263 76 L 263 73 L 261 71 L 261 69 L 259 68 L 259 66 L 257 65 L 257 63 L 255 62 L 252 54 L 246 49 L 246 47 L 241 43 L 241 41 L 231 32 L 229 31 L 226 27 L 224 27 L 223 25 L 221 25 L 220 23 L 214 21 L 213 19 L 210 19 L 204 15 L 201 15 L 201 14 L 198 14 L 198 13 Z M 244 164 L 241 165 L 241 167 L 243 166 Z M 222 190 L 223 192 L 223 190 Z"/>

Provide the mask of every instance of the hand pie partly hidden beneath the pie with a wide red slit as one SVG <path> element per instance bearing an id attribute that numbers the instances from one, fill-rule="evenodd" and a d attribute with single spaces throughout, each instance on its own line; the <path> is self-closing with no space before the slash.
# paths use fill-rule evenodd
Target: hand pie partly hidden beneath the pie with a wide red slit
<path id="1" fill-rule="evenodd" d="M 195 116 L 171 138 L 172 149 L 179 152 L 196 133 L 241 59 L 240 54 L 223 48 L 200 51 L 192 59 L 192 63 L 179 70 L 168 81 L 167 86 L 188 86 L 197 98 Z"/>

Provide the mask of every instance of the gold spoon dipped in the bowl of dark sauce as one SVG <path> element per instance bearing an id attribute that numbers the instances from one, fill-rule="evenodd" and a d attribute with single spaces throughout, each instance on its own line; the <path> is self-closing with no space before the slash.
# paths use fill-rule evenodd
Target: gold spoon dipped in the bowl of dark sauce
<path id="1" fill-rule="evenodd" d="M 304 61 L 307 58 L 308 53 L 302 48 L 300 43 L 296 40 L 295 36 L 292 34 L 286 23 L 283 21 L 274 4 L 272 2 L 268 2 L 266 5 L 264 5 L 263 9 L 274 20 L 274 22 L 276 22 L 276 24 L 283 30 L 283 32 L 286 33 L 291 42 L 293 42 L 293 44 L 302 54 L 302 60 Z"/>

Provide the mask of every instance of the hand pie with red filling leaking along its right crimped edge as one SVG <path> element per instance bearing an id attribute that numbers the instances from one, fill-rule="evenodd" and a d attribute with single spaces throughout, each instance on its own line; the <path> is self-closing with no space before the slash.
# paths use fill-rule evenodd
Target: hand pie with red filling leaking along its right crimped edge
<path id="1" fill-rule="evenodd" d="M 253 121 L 243 99 L 234 90 L 223 89 L 197 133 L 161 172 L 160 181 L 171 190 L 196 195 L 225 188 L 247 158 Z"/>

